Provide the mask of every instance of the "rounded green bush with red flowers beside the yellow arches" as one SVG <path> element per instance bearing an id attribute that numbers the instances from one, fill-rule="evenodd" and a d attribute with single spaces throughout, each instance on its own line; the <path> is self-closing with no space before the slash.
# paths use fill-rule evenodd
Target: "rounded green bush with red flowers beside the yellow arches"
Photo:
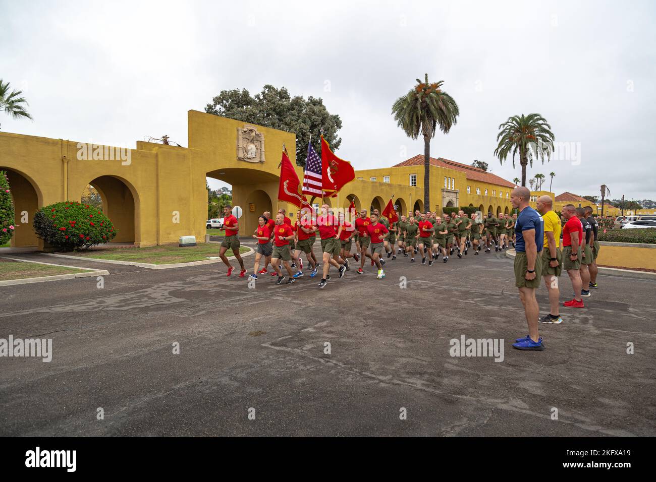
<path id="1" fill-rule="evenodd" d="M 50 245 L 62 250 L 87 249 L 112 241 L 112 220 L 88 204 L 73 201 L 41 208 L 34 216 L 34 231 Z"/>

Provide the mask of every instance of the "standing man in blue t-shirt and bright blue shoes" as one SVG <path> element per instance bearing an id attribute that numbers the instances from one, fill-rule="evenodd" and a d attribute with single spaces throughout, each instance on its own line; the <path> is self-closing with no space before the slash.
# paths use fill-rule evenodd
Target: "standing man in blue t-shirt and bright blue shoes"
<path id="1" fill-rule="evenodd" d="M 512 348 L 541 351 L 544 345 L 538 332 L 540 308 L 535 299 L 535 290 L 540 287 L 538 273 L 542 272 L 543 219 L 529 206 L 529 199 L 531 191 L 523 186 L 510 193 L 510 202 L 520 210 L 516 224 L 515 285 L 520 290 L 520 300 L 529 327 L 529 334 L 525 338 L 517 338 Z"/>

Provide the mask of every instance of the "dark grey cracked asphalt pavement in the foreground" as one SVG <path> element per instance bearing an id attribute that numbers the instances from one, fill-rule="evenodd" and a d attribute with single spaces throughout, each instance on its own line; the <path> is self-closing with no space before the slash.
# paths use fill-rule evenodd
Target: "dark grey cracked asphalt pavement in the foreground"
<path id="1" fill-rule="evenodd" d="M 0 338 L 52 338 L 52 361 L 0 357 L 0 435 L 656 435 L 656 281 L 600 275 L 522 352 L 512 260 L 408 260 L 323 290 L 222 264 L 2 287 Z M 502 361 L 451 356 L 463 335 Z"/>

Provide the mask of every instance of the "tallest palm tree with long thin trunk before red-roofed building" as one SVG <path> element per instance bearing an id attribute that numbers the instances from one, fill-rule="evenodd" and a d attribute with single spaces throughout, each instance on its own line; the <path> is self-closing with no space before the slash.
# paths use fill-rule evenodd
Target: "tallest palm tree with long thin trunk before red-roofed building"
<path id="1" fill-rule="evenodd" d="M 444 81 L 428 83 L 417 79 L 417 85 L 401 96 L 392 106 L 392 114 L 397 125 L 412 139 L 421 134 L 424 137 L 424 207 L 430 206 L 430 139 L 436 128 L 447 134 L 457 122 L 460 114 L 458 104 L 444 92 Z"/>

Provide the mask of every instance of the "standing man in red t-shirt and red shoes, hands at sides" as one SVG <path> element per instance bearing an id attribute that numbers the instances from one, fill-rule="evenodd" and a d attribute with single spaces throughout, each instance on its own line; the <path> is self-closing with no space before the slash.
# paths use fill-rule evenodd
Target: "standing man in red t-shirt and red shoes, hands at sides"
<path id="1" fill-rule="evenodd" d="M 581 290 L 583 289 L 583 280 L 581 280 L 581 243 L 585 243 L 583 238 L 583 225 L 576 216 L 576 208 L 573 204 L 568 204 L 560 211 L 563 219 L 567 220 L 563 228 L 563 268 L 567 271 L 569 280 L 572 282 L 574 289 L 574 299 L 563 303 L 568 308 L 584 308 Z M 583 241 L 582 241 L 583 240 Z"/>

